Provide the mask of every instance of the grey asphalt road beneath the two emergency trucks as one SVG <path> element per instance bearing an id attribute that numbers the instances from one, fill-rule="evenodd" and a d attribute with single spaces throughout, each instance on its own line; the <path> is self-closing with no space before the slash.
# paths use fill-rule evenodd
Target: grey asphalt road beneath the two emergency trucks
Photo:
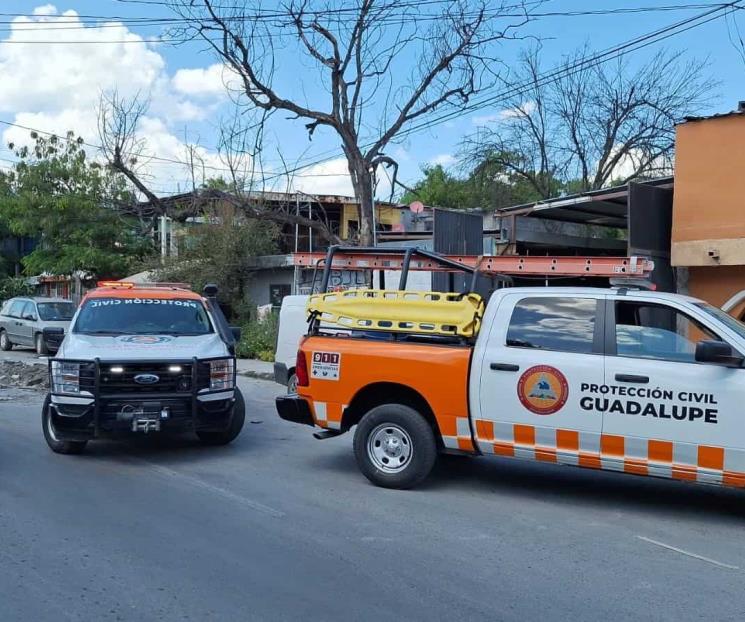
<path id="1" fill-rule="evenodd" d="M 0 394 L 0 619 L 745 619 L 745 493 L 486 458 L 383 490 L 241 382 L 229 447 L 82 456 Z"/>

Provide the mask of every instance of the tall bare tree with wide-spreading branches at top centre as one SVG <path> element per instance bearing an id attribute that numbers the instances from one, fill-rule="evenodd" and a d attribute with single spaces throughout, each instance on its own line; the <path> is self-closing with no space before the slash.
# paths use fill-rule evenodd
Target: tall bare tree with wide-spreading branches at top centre
<path id="1" fill-rule="evenodd" d="M 236 74 L 246 105 L 302 119 L 309 137 L 334 132 L 360 204 L 360 241 L 370 244 L 375 173 L 390 167 L 396 178 L 387 148 L 413 122 L 462 108 L 494 84 L 498 43 L 530 19 L 526 5 L 540 4 L 510 2 L 427 3 L 444 6 L 437 13 L 394 0 L 290 0 L 271 11 L 258 0 L 170 5 Z M 281 89 L 279 76 L 295 86 Z"/>

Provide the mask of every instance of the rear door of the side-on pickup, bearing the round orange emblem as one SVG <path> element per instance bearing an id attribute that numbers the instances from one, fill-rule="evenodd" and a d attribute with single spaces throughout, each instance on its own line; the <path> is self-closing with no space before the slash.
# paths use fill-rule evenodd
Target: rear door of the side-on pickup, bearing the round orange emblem
<path id="1" fill-rule="evenodd" d="M 601 294 L 504 295 L 474 363 L 482 452 L 600 466 L 602 417 L 580 396 L 603 384 L 604 306 Z"/>

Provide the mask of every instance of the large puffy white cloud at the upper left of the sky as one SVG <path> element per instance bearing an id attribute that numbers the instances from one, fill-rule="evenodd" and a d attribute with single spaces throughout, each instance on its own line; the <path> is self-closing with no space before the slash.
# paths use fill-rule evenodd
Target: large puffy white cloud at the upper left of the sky
<path id="1" fill-rule="evenodd" d="M 150 116 L 139 128 L 147 151 L 185 161 L 186 147 L 172 124 L 215 113 L 221 104 L 218 90 L 225 92 L 222 65 L 181 69 L 169 76 L 152 43 L 121 23 L 105 26 L 87 27 L 75 11 L 59 12 L 52 4 L 36 7 L 31 17 L 15 18 L 10 35 L 0 40 L 0 118 L 58 135 L 72 130 L 97 144 L 100 94 L 114 89 L 125 98 L 140 94 L 151 101 Z M 83 41 L 95 43 L 75 45 Z M 28 130 L 8 127 L 2 142 L 9 141 L 28 144 Z M 206 167 L 214 167 L 205 168 L 205 176 L 217 176 L 215 169 L 225 168 L 216 154 L 204 149 L 198 154 Z M 184 165 L 155 159 L 146 161 L 143 172 L 161 191 L 183 188 L 189 179 Z"/>

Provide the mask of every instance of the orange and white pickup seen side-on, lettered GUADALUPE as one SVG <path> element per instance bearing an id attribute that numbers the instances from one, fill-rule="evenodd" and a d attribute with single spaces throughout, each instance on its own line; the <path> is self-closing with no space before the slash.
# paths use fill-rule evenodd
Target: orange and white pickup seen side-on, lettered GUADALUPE
<path id="1" fill-rule="evenodd" d="M 486 306 L 355 290 L 308 310 L 279 415 L 317 438 L 356 427 L 377 485 L 415 486 L 456 452 L 745 487 L 745 325 L 705 302 L 630 287 L 508 287 Z"/>

